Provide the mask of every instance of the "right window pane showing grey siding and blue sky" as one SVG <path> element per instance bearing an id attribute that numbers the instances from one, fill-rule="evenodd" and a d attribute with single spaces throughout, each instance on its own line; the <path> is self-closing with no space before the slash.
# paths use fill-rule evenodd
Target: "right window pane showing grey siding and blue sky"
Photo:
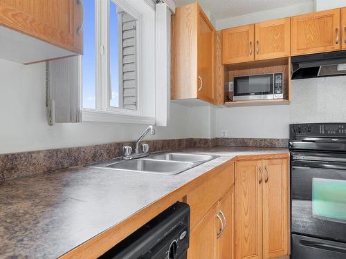
<path id="1" fill-rule="evenodd" d="M 137 19 L 110 1 L 110 106 L 137 110 Z"/>

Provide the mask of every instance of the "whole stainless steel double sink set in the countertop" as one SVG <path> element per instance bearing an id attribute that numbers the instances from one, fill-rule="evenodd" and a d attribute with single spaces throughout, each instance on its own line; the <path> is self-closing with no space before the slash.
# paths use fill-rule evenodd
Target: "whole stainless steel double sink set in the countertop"
<path id="1" fill-rule="evenodd" d="M 121 158 L 89 164 L 87 166 L 116 171 L 132 171 L 176 175 L 217 158 L 216 155 L 197 155 L 190 153 L 153 153 L 145 158 L 122 160 Z"/>

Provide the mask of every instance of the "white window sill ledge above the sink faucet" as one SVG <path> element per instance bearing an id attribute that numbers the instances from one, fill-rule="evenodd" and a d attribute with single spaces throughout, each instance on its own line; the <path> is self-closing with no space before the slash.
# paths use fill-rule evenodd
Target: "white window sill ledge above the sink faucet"
<path id="1" fill-rule="evenodd" d="M 154 117 L 119 114 L 111 111 L 83 109 L 83 122 L 116 122 L 131 124 L 156 124 Z"/>

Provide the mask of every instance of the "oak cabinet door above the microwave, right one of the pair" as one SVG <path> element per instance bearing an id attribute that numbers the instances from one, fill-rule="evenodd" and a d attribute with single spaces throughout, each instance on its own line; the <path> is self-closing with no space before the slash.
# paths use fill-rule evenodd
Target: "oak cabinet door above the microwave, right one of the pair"
<path id="1" fill-rule="evenodd" d="M 291 18 L 255 24 L 255 60 L 289 57 Z"/>

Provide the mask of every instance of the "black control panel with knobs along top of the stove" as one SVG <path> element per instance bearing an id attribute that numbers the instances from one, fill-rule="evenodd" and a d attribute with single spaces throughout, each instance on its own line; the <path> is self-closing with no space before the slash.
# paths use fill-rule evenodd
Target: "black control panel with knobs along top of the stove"
<path id="1" fill-rule="evenodd" d="M 346 123 L 291 124 L 290 137 L 346 137 Z"/>

